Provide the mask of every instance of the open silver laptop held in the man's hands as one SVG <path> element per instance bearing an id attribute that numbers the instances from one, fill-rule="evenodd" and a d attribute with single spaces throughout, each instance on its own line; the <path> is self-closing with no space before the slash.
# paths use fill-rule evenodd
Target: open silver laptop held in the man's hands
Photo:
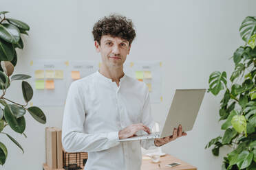
<path id="1" fill-rule="evenodd" d="M 173 134 L 173 128 L 182 125 L 182 130 L 192 130 L 198 111 L 204 98 L 206 89 L 177 89 L 171 107 L 165 119 L 161 132 L 154 132 L 131 138 L 123 138 L 119 141 L 136 141 L 150 138 L 163 138 Z"/>

